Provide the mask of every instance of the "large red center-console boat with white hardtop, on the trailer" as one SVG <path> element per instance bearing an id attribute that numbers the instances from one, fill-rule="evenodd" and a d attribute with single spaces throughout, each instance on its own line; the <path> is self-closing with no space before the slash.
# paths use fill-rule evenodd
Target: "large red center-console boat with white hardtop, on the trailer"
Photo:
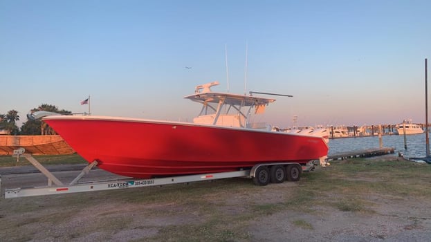
<path id="1" fill-rule="evenodd" d="M 202 104 L 193 122 L 95 115 L 43 118 L 88 162 L 114 174 L 152 178 L 250 168 L 257 163 L 297 162 L 327 156 L 323 137 L 275 131 L 253 123 L 274 99 L 217 93 L 218 82 L 196 86 L 185 98 Z"/>

